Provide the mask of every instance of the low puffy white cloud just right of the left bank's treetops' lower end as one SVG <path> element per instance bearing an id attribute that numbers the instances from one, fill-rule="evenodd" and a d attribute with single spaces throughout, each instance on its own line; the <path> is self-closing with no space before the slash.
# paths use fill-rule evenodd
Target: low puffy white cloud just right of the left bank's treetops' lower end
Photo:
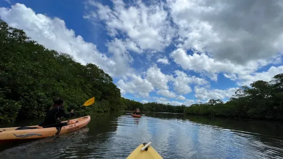
<path id="1" fill-rule="evenodd" d="M 129 92 L 142 97 L 148 97 L 149 92 L 154 90 L 152 83 L 147 79 L 143 79 L 141 76 L 131 74 L 129 75 L 129 81 L 120 79 L 117 82 L 117 86 L 121 89 L 121 93 Z"/>

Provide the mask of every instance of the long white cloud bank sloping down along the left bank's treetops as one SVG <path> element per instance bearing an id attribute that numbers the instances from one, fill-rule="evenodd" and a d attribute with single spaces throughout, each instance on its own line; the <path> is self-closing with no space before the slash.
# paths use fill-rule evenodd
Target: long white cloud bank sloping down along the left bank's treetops
<path id="1" fill-rule="evenodd" d="M 35 14 L 31 8 L 22 4 L 15 4 L 11 9 L 0 8 L 0 17 L 11 27 L 23 29 L 46 48 L 68 53 L 77 62 L 96 64 L 112 76 L 120 76 L 130 70 L 128 63 L 132 59 L 125 49 L 112 51 L 114 55 L 107 57 L 97 50 L 96 45 L 85 42 L 82 36 L 76 36 L 73 30 L 66 28 L 65 22 L 58 17 Z"/>

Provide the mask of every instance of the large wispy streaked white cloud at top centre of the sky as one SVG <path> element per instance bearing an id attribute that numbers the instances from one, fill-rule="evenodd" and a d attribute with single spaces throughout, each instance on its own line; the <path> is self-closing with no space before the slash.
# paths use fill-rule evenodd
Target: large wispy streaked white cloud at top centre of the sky
<path id="1" fill-rule="evenodd" d="M 175 30 L 167 21 L 168 12 L 162 4 L 144 5 L 136 1 L 125 5 L 122 0 L 112 2 L 113 9 L 89 0 L 88 8 L 95 7 L 95 11 L 89 10 L 84 17 L 93 23 L 100 19 L 111 36 L 126 35 L 141 50 L 162 51 L 171 43 Z"/>

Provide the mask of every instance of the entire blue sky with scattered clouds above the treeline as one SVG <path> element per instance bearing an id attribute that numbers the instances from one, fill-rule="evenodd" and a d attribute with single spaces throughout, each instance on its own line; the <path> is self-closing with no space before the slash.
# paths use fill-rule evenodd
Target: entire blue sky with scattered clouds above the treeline
<path id="1" fill-rule="evenodd" d="M 126 98 L 189 106 L 227 101 L 238 87 L 283 72 L 282 6 L 0 0 L 0 18 L 49 49 L 98 65 Z"/>

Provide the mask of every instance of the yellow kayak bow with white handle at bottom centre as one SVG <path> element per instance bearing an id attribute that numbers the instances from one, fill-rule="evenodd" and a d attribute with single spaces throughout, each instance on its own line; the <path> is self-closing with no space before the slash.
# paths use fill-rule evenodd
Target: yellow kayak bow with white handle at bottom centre
<path id="1" fill-rule="evenodd" d="M 138 146 L 127 159 L 162 159 L 162 157 L 151 147 L 152 143 L 144 143 Z"/>

